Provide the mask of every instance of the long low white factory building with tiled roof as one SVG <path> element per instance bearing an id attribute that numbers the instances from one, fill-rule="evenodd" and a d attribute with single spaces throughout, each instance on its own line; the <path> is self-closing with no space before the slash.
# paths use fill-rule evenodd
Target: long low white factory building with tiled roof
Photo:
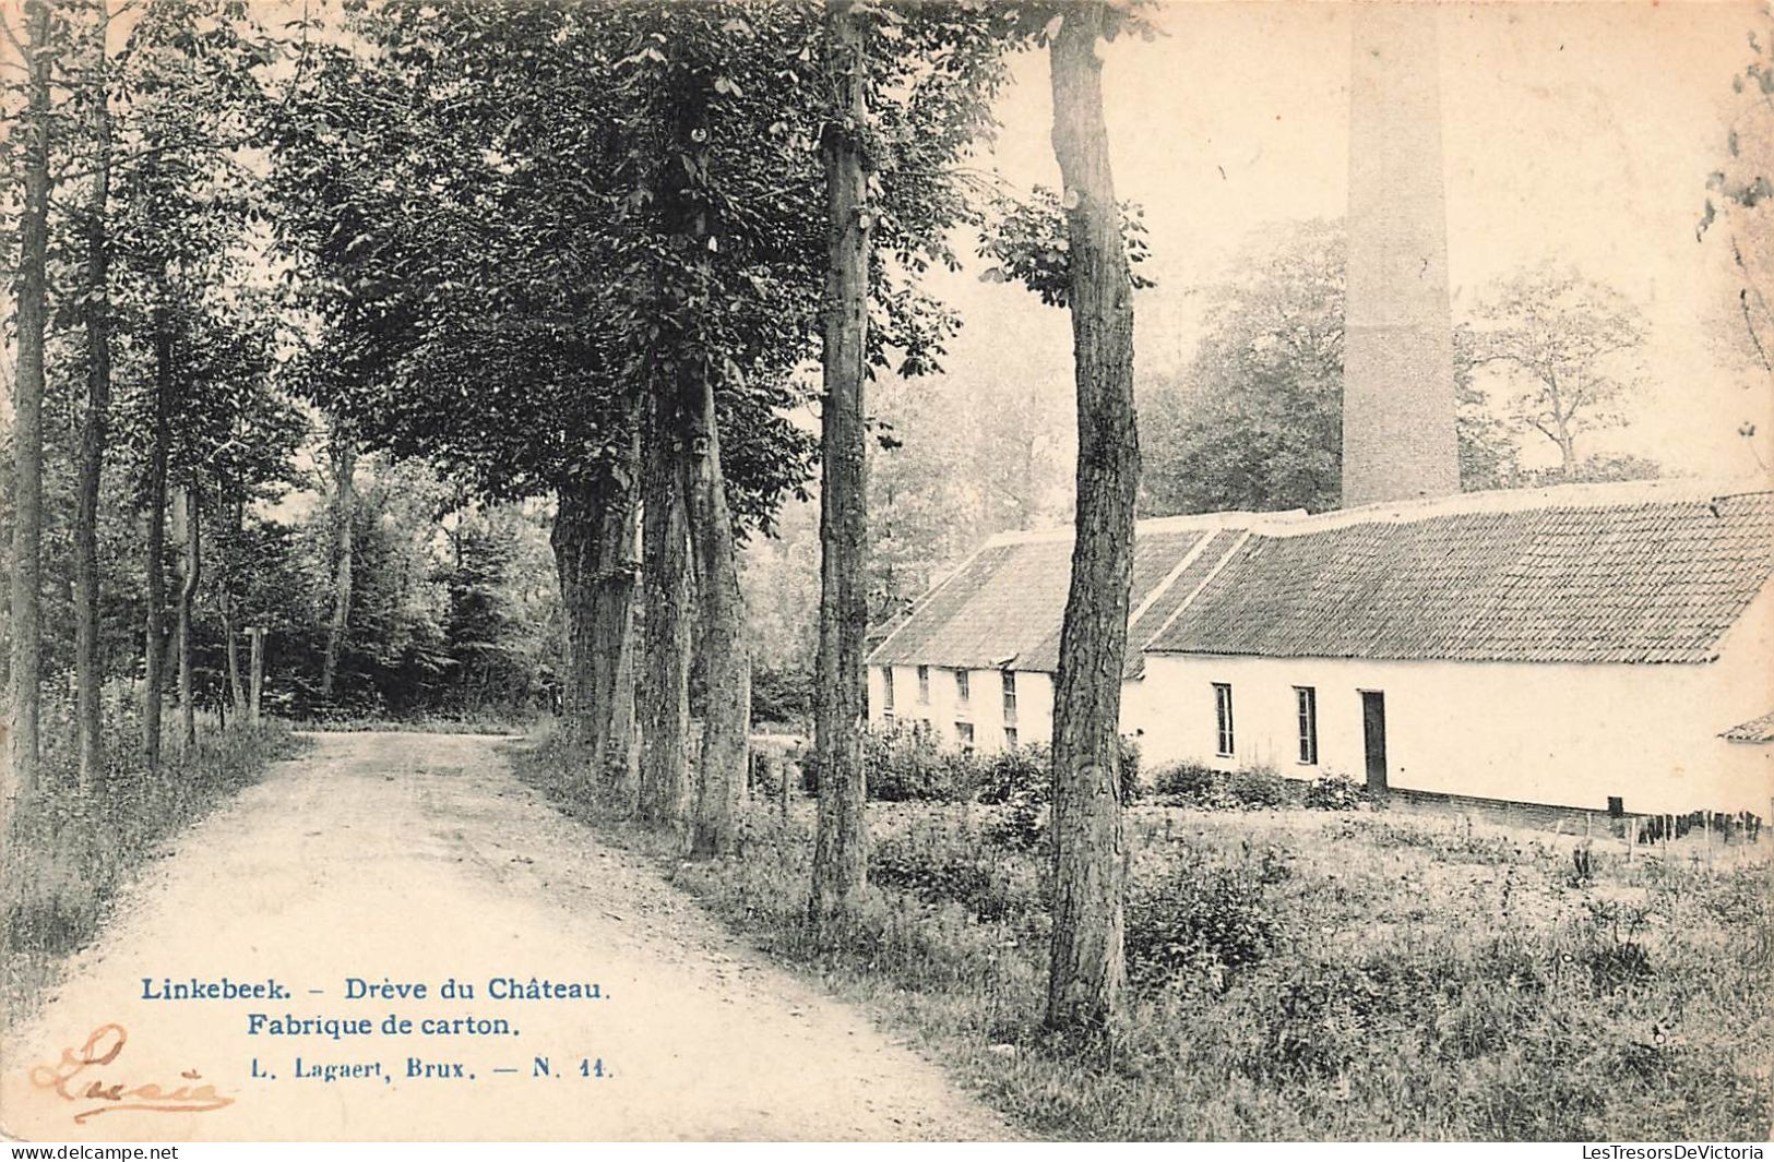
<path id="1" fill-rule="evenodd" d="M 1068 575 L 1070 530 L 988 543 L 875 649 L 871 717 L 1047 742 Z M 1770 814 L 1770 575 L 1767 484 L 1142 522 L 1121 727 L 1146 770 Z"/>

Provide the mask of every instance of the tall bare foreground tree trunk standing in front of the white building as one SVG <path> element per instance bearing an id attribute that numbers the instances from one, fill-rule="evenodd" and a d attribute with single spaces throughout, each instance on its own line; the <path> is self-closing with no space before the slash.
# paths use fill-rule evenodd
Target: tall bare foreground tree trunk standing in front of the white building
<path id="1" fill-rule="evenodd" d="M 1064 9 L 1052 41 L 1054 154 L 1071 255 L 1079 396 L 1071 589 L 1054 688 L 1054 942 L 1047 1024 L 1107 1029 L 1119 1009 L 1121 663 L 1134 564 L 1139 436 L 1134 422 L 1134 287 L 1109 170 L 1096 41 L 1102 4 Z"/>

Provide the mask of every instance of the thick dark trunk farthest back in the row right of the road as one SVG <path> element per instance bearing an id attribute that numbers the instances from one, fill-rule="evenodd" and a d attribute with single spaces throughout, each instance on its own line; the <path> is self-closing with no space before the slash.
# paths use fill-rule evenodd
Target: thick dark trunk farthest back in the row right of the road
<path id="1" fill-rule="evenodd" d="M 635 467 L 626 456 L 591 483 L 559 490 L 553 534 L 568 672 L 568 743 L 601 786 L 623 786 L 635 747 Z"/>

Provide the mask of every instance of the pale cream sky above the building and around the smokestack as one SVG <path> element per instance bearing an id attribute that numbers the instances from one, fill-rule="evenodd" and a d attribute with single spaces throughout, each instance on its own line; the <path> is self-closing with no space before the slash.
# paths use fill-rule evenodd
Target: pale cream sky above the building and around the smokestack
<path id="1" fill-rule="evenodd" d="M 1747 34 L 1774 27 L 1767 5 L 1433 7 L 1455 314 L 1499 277 L 1574 264 L 1650 321 L 1650 387 L 1629 428 L 1590 449 L 1740 475 L 1756 470 L 1737 435 L 1749 420 L 1754 454 L 1774 465 L 1774 385 L 1708 339 L 1731 325 L 1724 241 L 1694 236 Z M 1201 291 L 1240 247 L 1277 224 L 1343 216 L 1348 185 L 1348 5 L 1166 2 L 1153 14 L 1158 37 L 1103 50 L 1116 186 L 1146 211 L 1158 282 L 1135 300 L 1142 374 L 1187 362 Z M 1022 186 L 1057 186 L 1047 83 L 1045 53 L 1025 53 L 997 108 L 990 161 Z M 977 266 L 935 287 L 969 319 L 951 378 L 1009 364 L 1068 394 L 1068 328 L 1031 294 L 979 282 Z M 965 392 L 954 397 L 965 408 Z M 1552 458 L 1542 444 L 1527 445 L 1535 463 Z"/>

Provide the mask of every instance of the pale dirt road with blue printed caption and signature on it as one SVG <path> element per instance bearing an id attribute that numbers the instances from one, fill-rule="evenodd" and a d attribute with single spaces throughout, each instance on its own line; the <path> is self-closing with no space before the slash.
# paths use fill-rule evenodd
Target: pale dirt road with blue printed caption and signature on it
<path id="1" fill-rule="evenodd" d="M 289 997 L 160 999 L 193 977 Z M 385 988 L 355 997 L 349 977 Z M 442 997 L 451 977 L 472 999 Z M 596 999 L 504 999 L 495 977 Z M 1006 1137 L 461 734 L 321 736 L 183 836 L 7 1038 L 0 1123 L 34 1141 Z"/>

